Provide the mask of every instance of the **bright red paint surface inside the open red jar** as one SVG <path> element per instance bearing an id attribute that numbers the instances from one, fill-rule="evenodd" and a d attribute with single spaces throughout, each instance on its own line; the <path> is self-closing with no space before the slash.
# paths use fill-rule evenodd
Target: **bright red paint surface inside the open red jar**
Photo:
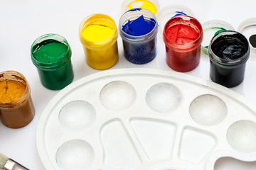
<path id="1" fill-rule="evenodd" d="M 172 42 L 176 42 L 178 44 L 187 44 L 195 41 L 198 38 L 199 33 L 196 32 L 196 30 L 191 26 L 178 24 L 171 26 L 171 28 L 167 30 L 166 36 Z"/>

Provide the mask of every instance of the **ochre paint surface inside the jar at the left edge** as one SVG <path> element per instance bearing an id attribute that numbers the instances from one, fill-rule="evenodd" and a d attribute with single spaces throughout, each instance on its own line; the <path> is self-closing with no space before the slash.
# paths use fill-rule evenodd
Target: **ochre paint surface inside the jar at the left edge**
<path id="1" fill-rule="evenodd" d="M 0 103 L 9 103 L 20 98 L 26 90 L 21 81 L 0 81 Z"/>

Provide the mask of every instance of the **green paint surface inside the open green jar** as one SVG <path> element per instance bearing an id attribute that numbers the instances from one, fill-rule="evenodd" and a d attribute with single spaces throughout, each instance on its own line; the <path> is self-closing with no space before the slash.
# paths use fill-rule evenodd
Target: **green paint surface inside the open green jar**
<path id="1" fill-rule="evenodd" d="M 68 47 L 61 42 L 50 42 L 45 45 L 38 45 L 33 56 L 42 63 L 58 62 L 68 52 Z"/>

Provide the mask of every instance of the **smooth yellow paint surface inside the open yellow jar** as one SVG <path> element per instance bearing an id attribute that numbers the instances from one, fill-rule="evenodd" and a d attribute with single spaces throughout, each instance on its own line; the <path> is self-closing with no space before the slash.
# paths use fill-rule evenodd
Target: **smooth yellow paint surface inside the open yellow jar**
<path id="1" fill-rule="evenodd" d="M 82 37 L 91 42 L 102 42 L 114 34 L 115 29 L 102 24 L 91 24 L 82 30 Z"/>

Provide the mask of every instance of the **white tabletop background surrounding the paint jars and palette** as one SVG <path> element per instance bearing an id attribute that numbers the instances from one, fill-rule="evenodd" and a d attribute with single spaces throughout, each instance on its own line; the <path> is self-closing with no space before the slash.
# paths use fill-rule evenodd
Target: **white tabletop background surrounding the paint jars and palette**
<path id="1" fill-rule="evenodd" d="M 230 23 L 235 29 L 247 18 L 256 17 L 254 0 L 159 0 L 161 8 L 171 4 L 182 4 L 191 8 L 201 23 L 218 19 Z M 0 123 L 0 152 L 15 159 L 28 169 L 41 170 L 43 164 L 36 150 L 36 127 L 43 109 L 58 91 L 44 88 L 31 62 L 30 49 L 36 38 L 46 33 L 57 33 L 65 37 L 73 51 L 72 62 L 75 80 L 95 72 L 85 62 L 85 55 L 78 38 L 80 21 L 93 13 L 105 13 L 116 21 L 121 15 L 121 0 L 0 0 L 0 72 L 15 70 L 21 72 L 31 86 L 31 96 L 36 116 L 25 128 L 6 128 Z M 165 62 L 164 42 L 159 34 L 158 55 L 149 64 L 136 65 L 127 62 L 118 38 L 119 62 L 111 69 L 146 67 L 170 70 Z M 245 80 L 232 88 L 250 102 L 256 104 L 256 55 L 251 54 L 247 62 Z M 201 55 L 201 63 L 191 72 L 196 77 L 209 80 L 209 61 Z M 256 144 L 255 144 L 256 145 Z M 256 162 L 240 162 L 235 159 L 220 159 L 217 170 L 256 169 Z"/>

